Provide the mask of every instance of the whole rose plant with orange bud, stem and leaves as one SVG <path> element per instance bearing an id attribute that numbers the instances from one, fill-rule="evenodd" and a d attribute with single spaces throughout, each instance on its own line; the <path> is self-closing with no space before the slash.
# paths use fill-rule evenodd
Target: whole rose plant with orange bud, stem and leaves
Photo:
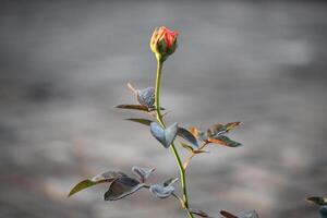
<path id="1" fill-rule="evenodd" d="M 205 148 L 209 144 L 222 145 L 227 147 L 239 147 L 242 144 L 227 136 L 234 128 L 240 125 L 240 122 L 216 123 L 208 126 L 206 130 L 199 130 L 194 126 L 183 128 L 178 123 L 167 125 L 164 121 L 162 111 L 165 108 L 160 106 L 160 86 L 164 62 L 175 51 L 178 47 L 179 33 L 170 31 L 165 26 L 156 28 L 150 39 L 150 49 L 157 60 L 157 76 L 155 87 L 136 89 L 132 84 L 128 87 L 134 93 L 137 105 L 119 105 L 117 108 L 138 110 L 146 112 L 149 119 L 132 118 L 129 121 L 137 122 L 149 128 L 150 134 L 164 146 L 169 148 L 173 154 L 177 166 L 180 171 L 179 177 L 172 177 L 161 184 L 148 184 L 147 178 L 155 171 L 155 168 L 133 167 L 134 177 L 128 175 L 122 171 L 108 170 L 101 172 L 92 179 L 86 179 L 78 182 L 69 193 L 69 196 L 94 186 L 100 183 L 108 183 L 109 189 L 105 193 L 105 201 L 117 201 L 134 194 L 141 189 L 148 189 L 158 198 L 173 197 L 178 201 L 181 208 L 185 211 L 189 218 L 195 216 L 202 218 L 213 218 L 207 213 L 192 208 L 187 196 L 185 171 L 189 162 L 197 155 L 206 153 Z M 177 142 L 182 138 L 183 142 Z M 187 143 L 184 143 L 187 142 Z M 185 148 L 190 153 L 189 157 L 182 160 L 177 146 Z M 174 185 L 180 182 L 181 193 L 175 193 Z M 257 218 L 254 210 L 232 214 L 226 210 L 220 211 L 220 217 L 225 218 Z M 217 217 L 217 216 L 216 216 Z"/>

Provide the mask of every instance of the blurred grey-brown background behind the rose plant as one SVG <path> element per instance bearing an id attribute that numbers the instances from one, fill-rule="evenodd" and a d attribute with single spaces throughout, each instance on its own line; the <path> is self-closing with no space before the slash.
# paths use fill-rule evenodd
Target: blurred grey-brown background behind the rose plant
<path id="1" fill-rule="evenodd" d="M 154 85 L 156 26 L 180 32 L 166 62 L 167 122 L 242 121 L 243 147 L 209 146 L 187 171 L 191 206 L 218 216 L 317 217 L 326 195 L 326 1 L 0 1 L 0 217 L 185 217 L 146 190 L 104 202 L 106 185 L 66 198 L 106 169 L 156 167 L 178 175 L 170 150 L 128 82 Z"/>

